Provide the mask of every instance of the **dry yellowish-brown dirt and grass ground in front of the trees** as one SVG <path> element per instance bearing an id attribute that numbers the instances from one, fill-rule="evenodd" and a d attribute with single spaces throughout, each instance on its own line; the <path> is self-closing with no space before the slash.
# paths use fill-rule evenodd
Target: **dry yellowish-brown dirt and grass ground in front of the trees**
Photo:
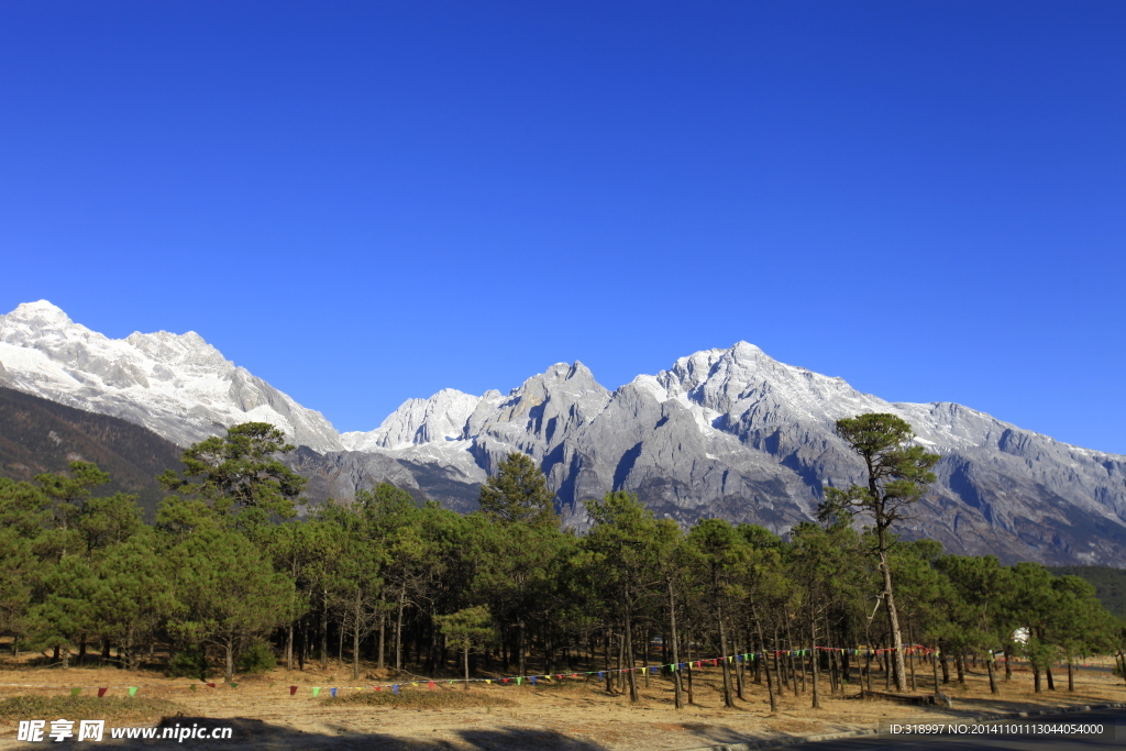
<path id="1" fill-rule="evenodd" d="M 114 668 L 72 668 L 68 671 L 19 669 L 9 664 L 0 669 L 0 704 L 12 697 L 65 697 L 70 688 L 83 687 L 82 696 L 97 696 L 97 687 L 108 687 L 107 697 L 127 697 L 128 686 L 140 687 L 137 698 L 163 699 L 177 705 L 175 716 L 137 719 L 107 719 L 114 725 L 158 725 L 162 719 L 171 726 L 191 724 L 233 727 L 231 741 L 185 740 L 193 749 L 215 749 L 239 745 L 254 751 L 296 751 L 298 749 L 544 749 L 546 751 L 683 751 L 722 743 L 739 743 L 785 736 L 806 736 L 849 730 L 872 728 L 888 718 L 954 718 L 991 713 L 1015 713 L 1054 706 L 1091 705 L 1126 701 L 1126 686 L 1110 673 L 1110 661 L 1093 661 L 1078 671 L 1075 691 L 1066 690 L 1066 671 L 1057 670 L 1056 690 L 1033 692 L 1033 678 L 1018 665 L 1011 682 L 1001 683 L 1001 696 L 989 692 L 984 671 L 967 676 L 965 686 L 951 682 L 942 691 L 953 700 L 953 708 L 910 706 L 883 699 L 858 698 L 859 687 L 849 687 L 847 696 L 829 696 L 828 681 L 822 680 L 822 708 L 811 708 L 811 691 L 794 696 L 793 689 L 779 699 L 777 715 L 770 715 L 766 686 L 748 679 L 745 701 L 736 709 L 723 708 L 717 668 L 695 671 L 696 704 L 677 710 L 672 706 L 668 679 L 650 677 L 649 686 L 638 677 L 642 700 L 631 705 L 625 696 L 610 696 L 605 686 L 593 680 L 564 679 L 558 685 L 462 686 L 438 683 L 435 691 L 465 691 L 458 704 L 468 706 L 422 706 L 400 699 L 383 705 L 332 701 L 330 687 L 338 696 L 356 694 L 356 687 L 370 687 L 374 680 L 352 682 L 342 676 L 346 670 L 309 670 L 287 672 L 275 670 L 263 676 L 240 677 L 231 688 L 216 682 L 215 688 L 188 679 L 169 679 L 159 673 L 128 673 Z M 876 674 L 875 690 L 883 690 L 882 676 Z M 929 669 L 920 671 L 919 694 L 931 694 Z M 291 696 L 289 687 L 297 686 Z M 312 687 L 322 687 L 319 697 Z M 422 682 L 412 691 L 427 691 Z M 364 688 L 363 691 L 370 691 Z M 385 695 L 383 695 L 385 697 Z M 423 697 L 418 697 L 422 699 Z M 441 704 L 443 697 L 427 701 Z M 474 704 L 480 703 L 480 704 Z M 498 706 L 498 703 L 501 706 Z M 426 701 L 413 703 L 426 704 Z M 0 749 L 42 748 L 38 743 L 16 740 L 17 721 L 0 719 Z M 79 717 L 68 717 L 78 719 Z M 101 717 L 91 717 L 101 718 Z M 27 717 L 46 719 L 56 717 Z M 167 745 L 173 741 L 110 741 L 102 743 L 118 749 Z M 95 746 L 90 746 L 95 748 Z"/>

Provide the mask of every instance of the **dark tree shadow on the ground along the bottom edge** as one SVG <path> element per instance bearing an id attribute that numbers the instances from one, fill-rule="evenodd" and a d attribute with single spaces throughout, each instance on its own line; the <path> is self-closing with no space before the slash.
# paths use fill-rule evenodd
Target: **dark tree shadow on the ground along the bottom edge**
<path id="1" fill-rule="evenodd" d="M 552 731 L 530 730 L 524 727 L 494 727 L 491 730 L 465 730 L 456 733 L 457 740 L 426 737 L 421 733 L 417 737 L 403 737 L 383 733 L 355 733 L 340 728 L 338 734 L 305 733 L 288 727 L 270 725 L 261 719 L 241 717 L 171 717 L 158 725 L 158 735 L 163 728 L 177 727 L 231 727 L 230 740 L 186 739 L 185 746 L 193 751 L 213 751 L 216 749 L 235 749 L 239 751 L 524 751 L 537 749 L 543 751 L 606 751 L 606 746 L 581 739 L 570 737 Z M 107 731 L 108 735 L 108 731 Z M 170 740 L 116 740 L 108 737 L 99 745 L 117 750 L 149 749 L 163 745 Z M 30 746 L 29 746 L 30 748 Z"/>

